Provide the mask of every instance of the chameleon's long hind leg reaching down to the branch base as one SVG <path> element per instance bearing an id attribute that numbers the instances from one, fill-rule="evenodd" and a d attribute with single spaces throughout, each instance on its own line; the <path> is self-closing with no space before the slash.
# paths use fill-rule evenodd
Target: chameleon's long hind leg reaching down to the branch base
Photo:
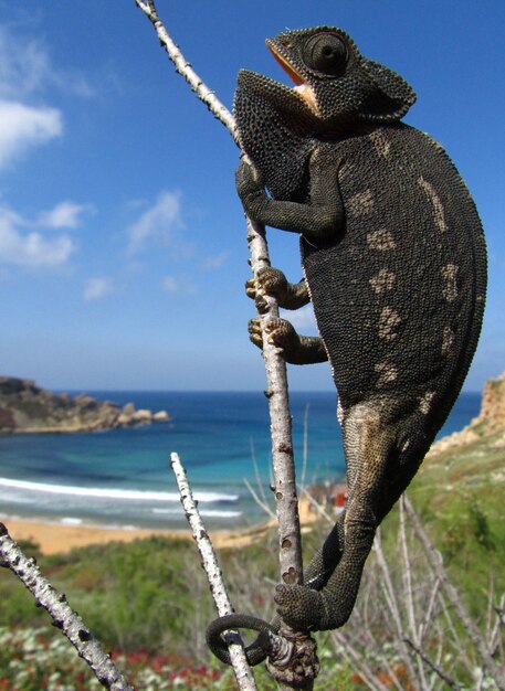
<path id="1" fill-rule="evenodd" d="M 386 467 L 393 447 L 391 429 L 364 411 L 362 416 L 359 412 L 348 416 L 345 435 L 349 483 L 346 511 L 316 555 L 316 564 L 307 570 L 309 587 L 280 585 L 276 589 L 278 614 L 296 628 L 333 629 L 347 621 L 379 523 Z M 322 563 L 325 573 L 317 578 L 312 573 Z"/>

